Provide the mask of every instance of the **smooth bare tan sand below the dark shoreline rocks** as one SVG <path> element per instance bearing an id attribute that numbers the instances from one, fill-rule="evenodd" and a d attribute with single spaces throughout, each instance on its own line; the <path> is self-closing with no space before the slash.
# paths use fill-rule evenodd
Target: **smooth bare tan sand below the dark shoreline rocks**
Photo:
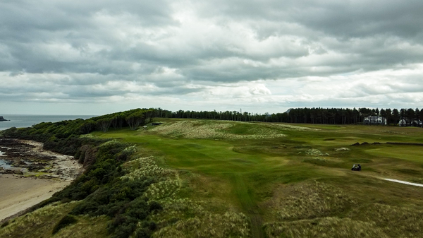
<path id="1" fill-rule="evenodd" d="M 50 198 L 71 181 L 0 175 L 0 221 Z"/>

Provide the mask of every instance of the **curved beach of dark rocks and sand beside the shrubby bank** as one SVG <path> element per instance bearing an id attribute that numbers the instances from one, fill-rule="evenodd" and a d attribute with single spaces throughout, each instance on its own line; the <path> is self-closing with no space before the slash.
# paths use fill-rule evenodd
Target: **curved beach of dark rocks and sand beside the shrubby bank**
<path id="1" fill-rule="evenodd" d="M 0 139 L 0 220 L 61 191 L 82 173 L 72 156 L 43 150 L 36 141 Z"/>

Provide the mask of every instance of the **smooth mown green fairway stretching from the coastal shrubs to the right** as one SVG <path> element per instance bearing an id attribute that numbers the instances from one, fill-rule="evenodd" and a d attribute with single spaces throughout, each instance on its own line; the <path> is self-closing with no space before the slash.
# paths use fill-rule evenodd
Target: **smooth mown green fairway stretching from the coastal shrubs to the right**
<path id="1" fill-rule="evenodd" d="M 206 121 L 210 123 L 221 123 Z M 167 122 L 173 123 L 172 121 Z M 166 125 L 166 124 L 165 124 Z M 110 131 L 97 136 L 121 138 L 137 143 L 146 155 L 155 154 L 162 165 L 187 172 L 185 180 L 192 189 L 185 195 L 212 201 L 216 209 L 242 211 L 252 221 L 253 237 L 263 237 L 262 224 L 274 222 L 271 201 L 289 189 L 290 184 L 305 184 L 317 179 L 331 184 L 354 198 L 357 206 L 386 203 L 396 206 L 423 206 L 423 189 L 384 182 L 379 177 L 418 182 L 423 172 L 423 150 L 411 145 L 360 145 L 356 142 L 423 142 L 418 128 L 386 126 L 305 125 L 319 131 L 277 129 L 279 138 L 185 138 L 151 130 Z M 270 124 L 235 124 L 225 133 L 245 135 Z M 348 147 L 350 151 L 336 152 Z M 310 148 L 329 156 L 307 156 Z M 362 172 L 351 172 L 353 163 L 361 163 Z M 189 174 L 203 179 L 191 179 Z M 195 181 L 197 180 L 197 181 Z M 283 197 L 283 196 L 281 196 Z M 223 203 L 222 203 L 223 202 Z M 353 208 L 352 208 L 353 209 Z M 352 210 L 331 215 L 343 217 Z M 364 218 L 363 218 L 364 219 Z"/>

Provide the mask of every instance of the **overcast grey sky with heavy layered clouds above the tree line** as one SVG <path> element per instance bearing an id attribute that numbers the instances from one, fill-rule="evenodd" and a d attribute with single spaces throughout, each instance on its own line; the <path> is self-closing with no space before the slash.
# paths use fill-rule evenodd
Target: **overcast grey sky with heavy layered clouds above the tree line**
<path id="1" fill-rule="evenodd" d="M 0 114 L 423 107 L 422 0 L 0 1 Z"/>

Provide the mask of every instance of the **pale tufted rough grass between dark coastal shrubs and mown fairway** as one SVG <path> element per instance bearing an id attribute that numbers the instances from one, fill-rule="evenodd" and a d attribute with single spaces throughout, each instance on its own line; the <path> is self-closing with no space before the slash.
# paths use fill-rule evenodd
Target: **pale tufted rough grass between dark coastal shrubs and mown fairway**
<path id="1" fill-rule="evenodd" d="M 122 179 L 154 176 L 145 196 L 158 201 L 162 210 L 152 220 L 157 224 L 153 237 L 248 237 L 248 220 L 243 213 L 217 213 L 204 209 L 201 202 L 181 198 L 178 172 L 157 166 L 154 157 L 140 157 L 125 163 L 128 174 Z M 141 224 L 139 224 L 141 226 Z M 135 232 L 137 236 L 138 230 Z"/>

